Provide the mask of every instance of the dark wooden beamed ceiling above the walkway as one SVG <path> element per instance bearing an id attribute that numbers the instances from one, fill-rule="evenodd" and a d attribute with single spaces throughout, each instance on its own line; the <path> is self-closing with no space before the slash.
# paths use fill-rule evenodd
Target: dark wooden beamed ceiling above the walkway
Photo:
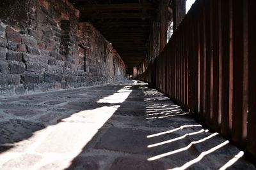
<path id="1" fill-rule="evenodd" d="M 139 66 L 149 46 L 158 0 L 69 0 L 80 22 L 91 22 L 112 43 L 128 68 Z"/>

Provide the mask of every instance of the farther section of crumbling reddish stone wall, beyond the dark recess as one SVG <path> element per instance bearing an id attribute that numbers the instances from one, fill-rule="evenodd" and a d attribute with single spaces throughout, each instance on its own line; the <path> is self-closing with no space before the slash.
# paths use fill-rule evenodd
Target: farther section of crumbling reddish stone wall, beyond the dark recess
<path id="1" fill-rule="evenodd" d="M 112 45 L 89 22 L 79 23 L 79 45 L 86 49 L 86 77 L 109 82 L 125 78 L 125 64 Z"/>

